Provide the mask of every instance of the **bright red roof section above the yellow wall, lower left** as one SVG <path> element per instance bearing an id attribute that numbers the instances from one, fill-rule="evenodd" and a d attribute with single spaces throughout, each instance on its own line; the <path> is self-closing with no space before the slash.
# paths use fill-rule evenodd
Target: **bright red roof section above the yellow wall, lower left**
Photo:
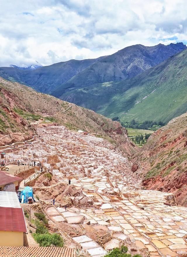
<path id="1" fill-rule="evenodd" d="M 0 231 L 27 232 L 23 209 L 0 207 Z"/>

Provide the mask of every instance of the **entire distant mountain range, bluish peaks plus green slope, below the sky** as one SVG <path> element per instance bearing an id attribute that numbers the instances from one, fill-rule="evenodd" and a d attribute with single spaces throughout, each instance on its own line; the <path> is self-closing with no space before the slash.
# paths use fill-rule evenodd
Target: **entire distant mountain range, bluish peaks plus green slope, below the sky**
<path id="1" fill-rule="evenodd" d="M 186 45 L 134 45 L 96 59 L 35 70 L 0 67 L 0 76 L 122 122 L 167 122 L 186 110 Z"/>

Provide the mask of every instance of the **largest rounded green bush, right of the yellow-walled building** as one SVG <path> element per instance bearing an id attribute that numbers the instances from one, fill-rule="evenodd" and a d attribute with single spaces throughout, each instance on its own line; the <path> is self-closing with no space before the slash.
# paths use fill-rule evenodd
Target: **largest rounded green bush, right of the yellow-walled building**
<path id="1" fill-rule="evenodd" d="M 59 246 L 63 247 L 64 240 L 60 235 L 54 233 L 54 234 L 34 234 L 34 239 L 39 244 L 39 246 Z"/>

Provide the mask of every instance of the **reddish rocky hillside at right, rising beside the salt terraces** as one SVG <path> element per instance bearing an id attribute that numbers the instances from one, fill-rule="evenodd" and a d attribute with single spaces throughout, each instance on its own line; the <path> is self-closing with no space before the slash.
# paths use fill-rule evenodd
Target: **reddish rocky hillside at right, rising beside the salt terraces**
<path id="1" fill-rule="evenodd" d="M 133 162 L 144 187 L 174 193 L 187 206 L 187 113 L 155 131 Z"/>

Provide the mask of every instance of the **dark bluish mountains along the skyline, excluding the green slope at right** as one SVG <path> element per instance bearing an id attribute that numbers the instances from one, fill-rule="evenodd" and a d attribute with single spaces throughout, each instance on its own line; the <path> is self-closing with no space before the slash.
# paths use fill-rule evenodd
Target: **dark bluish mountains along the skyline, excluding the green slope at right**
<path id="1" fill-rule="evenodd" d="M 96 83 L 121 81 L 135 77 L 186 48 L 183 43 L 167 46 L 135 45 L 96 59 L 69 60 L 36 70 L 0 67 L 0 76 L 34 88 L 41 93 L 60 97 L 65 91 Z"/>

